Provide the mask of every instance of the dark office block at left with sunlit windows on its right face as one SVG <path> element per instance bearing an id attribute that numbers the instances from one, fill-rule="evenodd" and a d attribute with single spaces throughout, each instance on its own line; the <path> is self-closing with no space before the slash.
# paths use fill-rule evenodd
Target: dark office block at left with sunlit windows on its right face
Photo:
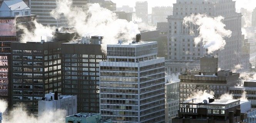
<path id="1" fill-rule="evenodd" d="M 23 104 L 28 113 L 37 115 L 38 100 L 45 94 L 61 93 L 61 43 L 66 41 L 15 42 L 11 44 L 10 108 Z"/>

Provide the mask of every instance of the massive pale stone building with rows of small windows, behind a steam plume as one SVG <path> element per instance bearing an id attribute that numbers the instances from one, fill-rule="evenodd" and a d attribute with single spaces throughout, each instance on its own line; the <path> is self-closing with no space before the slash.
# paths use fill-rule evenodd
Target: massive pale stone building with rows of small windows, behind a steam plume
<path id="1" fill-rule="evenodd" d="M 216 51 L 214 55 L 219 58 L 219 68 L 231 69 L 233 66 L 242 64 L 241 62 L 241 13 L 236 13 L 235 1 L 233 0 L 176 0 L 173 14 L 168 16 L 168 57 L 166 68 L 168 73 L 181 73 L 186 70 L 196 68 L 187 64 L 199 63 L 200 57 L 205 55 L 206 50 L 202 43 L 196 45 L 194 38 L 199 35 L 196 31 L 199 26 L 183 25 L 183 18 L 191 14 L 206 14 L 211 17 L 223 16 L 223 23 L 227 30 L 232 31 L 230 38 L 224 38 L 226 45 L 223 50 Z M 193 30 L 195 35 L 189 35 Z M 177 64 L 178 62 L 178 64 Z M 199 68 L 200 64 L 196 64 Z M 244 65 L 246 66 L 246 65 Z M 176 71 L 177 70 L 177 71 Z"/>

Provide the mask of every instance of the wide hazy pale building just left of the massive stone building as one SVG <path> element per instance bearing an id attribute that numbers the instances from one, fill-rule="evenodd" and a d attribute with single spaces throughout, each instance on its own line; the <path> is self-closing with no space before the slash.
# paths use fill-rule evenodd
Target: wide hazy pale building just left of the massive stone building
<path id="1" fill-rule="evenodd" d="M 153 7 L 151 14 L 151 23 L 157 25 L 157 22 L 167 22 L 168 15 L 172 15 L 172 7 Z"/>

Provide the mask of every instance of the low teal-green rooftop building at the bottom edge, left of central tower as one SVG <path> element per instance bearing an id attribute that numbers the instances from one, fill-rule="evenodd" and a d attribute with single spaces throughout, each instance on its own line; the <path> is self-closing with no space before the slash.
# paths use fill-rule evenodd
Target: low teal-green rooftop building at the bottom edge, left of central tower
<path id="1" fill-rule="evenodd" d="M 111 119 L 102 120 L 100 114 L 78 113 L 66 116 L 65 123 L 113 123 Z"/>

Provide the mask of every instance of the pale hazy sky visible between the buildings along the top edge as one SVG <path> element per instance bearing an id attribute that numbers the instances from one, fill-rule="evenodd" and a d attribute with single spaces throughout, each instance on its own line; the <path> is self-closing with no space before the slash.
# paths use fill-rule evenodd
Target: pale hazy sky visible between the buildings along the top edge
<path id="1" fill-rule="evenodd" d="M 117 7 L 122 7 L 122 5 L 129 5 L 134 7 L 136 1 L 147 1 L 149 5 L 149 14 L 152 11 L 152 7 L 155 6 L 173 6 L 176 0 L 112 0 L 112 2 L 117 4 Z M 248 10 L 253 10 L 256 7 L 256 0 L 234 0 L 236 2 L 236 9 L 248 8 Z"/>

